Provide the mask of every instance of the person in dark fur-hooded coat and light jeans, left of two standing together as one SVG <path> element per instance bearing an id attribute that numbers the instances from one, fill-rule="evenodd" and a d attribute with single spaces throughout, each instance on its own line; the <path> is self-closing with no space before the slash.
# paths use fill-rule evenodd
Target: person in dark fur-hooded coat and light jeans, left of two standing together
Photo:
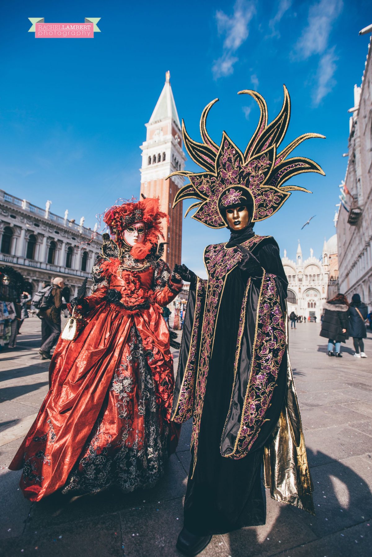
<path id="1" fill-rule="evenodd" d="M 323 305 L 324 316 L 321 324 L 320 336 L 328 339 L 328 355 L 334 356 L 335 345 L 336 356 L 342 358 L 341 342 L 349 338 L 349 302 L 343 294 L 338 294 L 332 300 Z"/>

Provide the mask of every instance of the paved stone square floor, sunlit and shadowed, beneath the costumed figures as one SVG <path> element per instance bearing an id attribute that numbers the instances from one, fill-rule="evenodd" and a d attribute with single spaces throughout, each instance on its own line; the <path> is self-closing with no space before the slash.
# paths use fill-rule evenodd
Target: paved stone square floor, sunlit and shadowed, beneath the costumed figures
<path id="1" fill-rule="evenodd" d="M 318 323 L 290 330 L 290 357 L 299 397 L 316 516 L 267 495 L 265 526 L 214 536 L 202 557 L 286 555 L 369 556 L 372 546 L 372 335 L 369 359 L 351 341 L 343 359 L 329 358 Z M 39 360 L 40 323 L 24 322 L 15 350 L 0 351 L 0 555 L 147 557 L 180 555 L 182 504 L 190 463 L 191 424 L 151 491 L 109 490 L 69 499 L 28 502 L 21 472 L 8 470 L 48 389 L 48 362 Z M 174 351 L 175 365 L 177 353 Z"/>

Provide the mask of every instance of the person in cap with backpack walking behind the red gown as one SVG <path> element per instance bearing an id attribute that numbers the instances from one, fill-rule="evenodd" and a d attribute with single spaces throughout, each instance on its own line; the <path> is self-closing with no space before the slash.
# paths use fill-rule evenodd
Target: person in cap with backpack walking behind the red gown
<path id="1" fill-rule="evenodd" d="M 63 278 L 53 279 L 52 286 L 37 292 L 32 300 L 32 305 L 39 309 L 41 318 L 41 347 L 39 354 L 42 360 L 50 360 L 51 349 L 57 343 L 61 334 L 62 289 L 65 286 Z M 43 294 L 42 294 L 43 293 Z M 42 294 L 42 296 L 41 296 Z M 67 307 L 65 305 L 65 307 Z"/>

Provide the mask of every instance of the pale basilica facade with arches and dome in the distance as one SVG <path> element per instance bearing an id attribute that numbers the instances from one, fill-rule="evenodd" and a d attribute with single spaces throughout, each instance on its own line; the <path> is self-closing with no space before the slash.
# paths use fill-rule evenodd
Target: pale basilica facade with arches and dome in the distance
<path id="1" fill-rule="evenodd" d="M 337 236 L 334 234 L 328 242 L 324 241 L 321 260 L 314 257 L 302 258 L 302 250 L 297 247 L 296 261 L 287 257 L 284 250 L 282 257 L 284 271 L 288 280 L 287 306 L 288 314 L 316 317 L 320 320 L 323 304 L 334 297 L 338 291 L 338 257 Z"/>

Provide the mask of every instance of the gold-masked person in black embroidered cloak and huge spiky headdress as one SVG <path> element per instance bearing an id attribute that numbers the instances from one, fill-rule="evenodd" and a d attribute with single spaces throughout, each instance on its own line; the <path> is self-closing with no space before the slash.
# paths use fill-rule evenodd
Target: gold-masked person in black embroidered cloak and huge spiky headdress
<path id="1" fill-rule="evenodd" d="M 172 420 L 192 417 L 192 461 L 183 529 L 177 548 L 197 555 L 212 535 L 265 524 L 264 484 L 277 501 L 314 513 L 301 418 L 287 353 L 287 280 L 279 247 L 259 236 L 255 222 L 271 217 L 304 188 L 284 183 L 302 172 L 324 174 L 312 160 L 288 158 L 308 133 L 278 152 L 290 118 L 290 98 L 267 124 L 266 102 L 255 91 L 260 120 L 242 153 L 224 132 L 217 145 L 201 116 L 202 143 L 182 124 L 187 152 L 205 172 L 176 172 L 190 179 L 174 204 L 195 198 L 192 218 L 210 228 L 227 227 L 230 240 L 207 246 L 208 280 L 185 265 L 176 272 L 190 282 L 173 398 Z M 173 175 L 174 175 L 173 174 Z M 190 209 L 189 209 L 190 210 Z"/>

